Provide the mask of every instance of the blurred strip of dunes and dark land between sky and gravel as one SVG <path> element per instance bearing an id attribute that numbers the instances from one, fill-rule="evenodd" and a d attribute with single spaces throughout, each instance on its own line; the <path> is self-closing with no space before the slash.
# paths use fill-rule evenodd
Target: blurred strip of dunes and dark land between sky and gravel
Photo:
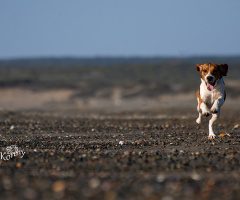
<path id="1" fill-rule="evenodd" d="M 7 110 L 148 110 L 195 106 L 195 65 L 227 63 L 229 103 L 240 98 L 240 57 L 43 58 L 0 60 Z"/>

